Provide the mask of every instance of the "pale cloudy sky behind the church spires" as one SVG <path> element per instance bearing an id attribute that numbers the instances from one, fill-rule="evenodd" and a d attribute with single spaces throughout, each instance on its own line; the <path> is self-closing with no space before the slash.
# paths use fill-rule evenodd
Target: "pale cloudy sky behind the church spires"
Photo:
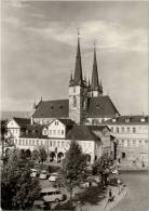
<path id="1" fill-rule="evenodd" d="M 148 114 L 147 2 L 3 0 L 1 109 L 68 98 L 77 34 L 91 78 L 96 43 L 99 79 L 121 115 Z"/>

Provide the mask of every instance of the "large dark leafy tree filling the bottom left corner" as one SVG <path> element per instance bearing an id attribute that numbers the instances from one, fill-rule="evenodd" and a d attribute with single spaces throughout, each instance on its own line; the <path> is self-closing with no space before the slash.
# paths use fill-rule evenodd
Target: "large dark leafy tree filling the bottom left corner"
<path id="1" fill-rule="evenodd" d="M 1 171 L 1 207 L 4 210 L 28 210 L 39 198 L 39 179 L 30 176 L 30 160 L 15 149 Z"/>

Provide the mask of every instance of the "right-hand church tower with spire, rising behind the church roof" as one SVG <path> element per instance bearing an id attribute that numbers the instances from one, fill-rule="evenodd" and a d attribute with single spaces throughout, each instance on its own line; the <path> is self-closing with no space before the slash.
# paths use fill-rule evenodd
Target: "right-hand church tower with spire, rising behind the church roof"
<path id="1" fill-rule="evenodd" d="M 90 96 L 101 96 L 103 95 L 103 85 L 101 81 L 98 80 L 98 68 L 96 60 L 96 48 L 94 45 L 94 60 L 93 60 L 93 71 L 92 71 L 92 81 L 90 85 Z"/>

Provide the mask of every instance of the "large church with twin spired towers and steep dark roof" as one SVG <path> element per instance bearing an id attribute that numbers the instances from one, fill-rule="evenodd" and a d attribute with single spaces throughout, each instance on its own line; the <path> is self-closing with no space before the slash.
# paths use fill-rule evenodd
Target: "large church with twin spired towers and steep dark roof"
<path id="1" fill-rule="evenodd" d="M 55 118 L 71 119 L 77 124 L 97 124 L 120 116 L 108 95 L 104 95 L 101 80 L 98 78 L 96 49 L 92 79 L 86 80 L 82 71 L 80 39 L 78 37 L 74 72 L 69 80 L 69 98 L 56 101 L 40 101 L 33 106 L 31 122 L 46 124 Z"/>

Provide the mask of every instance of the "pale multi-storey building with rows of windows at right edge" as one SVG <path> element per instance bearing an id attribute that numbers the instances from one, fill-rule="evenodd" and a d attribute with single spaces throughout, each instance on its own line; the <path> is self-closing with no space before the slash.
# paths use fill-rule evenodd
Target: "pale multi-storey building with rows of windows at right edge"
<path id="1" fill-rule="evenodd" d="M 121 116 L 105 122 L 117 140 L 117 157 L 123 163 L 147 166 L 148 116 Z"/>

